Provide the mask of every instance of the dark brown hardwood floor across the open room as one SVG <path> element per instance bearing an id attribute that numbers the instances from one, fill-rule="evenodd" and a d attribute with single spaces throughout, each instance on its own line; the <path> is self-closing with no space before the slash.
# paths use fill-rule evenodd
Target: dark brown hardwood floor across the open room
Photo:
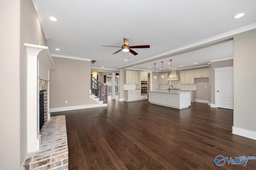
<path id="1" fill-rule="evenodd" d="M 231 133 L 233 111 L 192 103 L 172 109 L 148 101 L 118 102 L 108 107 L 55 112 L 66 115 L 69 170 L 237 169 L 218 167 L 217 155 L 256 156 L 256 140 Z"/>

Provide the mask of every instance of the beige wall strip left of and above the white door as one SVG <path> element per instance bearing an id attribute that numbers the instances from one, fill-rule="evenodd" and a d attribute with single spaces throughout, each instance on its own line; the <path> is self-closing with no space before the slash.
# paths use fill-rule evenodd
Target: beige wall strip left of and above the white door
<path id="1" fill-rule="evenodd" d="M 217 61 L 217 62 L 212 62 L 211 64 L 211 104 L 214 104 L 214 68 L 219 68 L 219 67 L 227 67 L 227 66 L 233 66 L 233 59 L 231 60 L 224 60 L 224 61 Z"/>

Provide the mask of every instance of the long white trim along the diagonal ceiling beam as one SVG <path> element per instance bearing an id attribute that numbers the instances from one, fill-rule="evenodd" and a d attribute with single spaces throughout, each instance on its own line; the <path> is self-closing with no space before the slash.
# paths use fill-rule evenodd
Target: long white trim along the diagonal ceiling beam
<path id="1" fill-rule="evenodd" d="M 240 27 L 238 29 L 234 29 L 234 30 L 231 30 L 231 31 L 219 34 L 219 35 L 215 35 L 215 36 L 210 37 L 210 38 L 203 39 L 201 41 L 197 41 L 195 43 L 184 45 L 182 47 L 178 47 L 176 49 L 172 49 L 170 51 L 166 51 L 164 53 L 160 53 L 160 54 L 154 55 L 152 57 L 148 57 L 148 58 L 145 58 L 145 59 L 142 59 L 142 60 L 130 63 L 130 64 L 126 64 L 126 65 L 120 66 L 119 68 L 126 68 L 126 67 L 130 67 L 130 66 L 138 65 L 139 63 L 143 63 L 143 62 L 146 62 L 148 60 L 156 60 L 156 59 L 158 59 L 160 57 L 161 58 L 162 57 L 168 57 L 170 55 L 174 55 L 174 54 L 176 54 L 178 52 L 181 52 L 181 51 L 188 51 L 188 50 L 195 49 L 195 48 L 203 46 L 203 45 L 209 45 L 211 43 L 214 43 L 214 41 L 218 42 L 221 39 L 232 38 L 233 35 L 236 35 L 238 33 L 242 33 L 242 32 L 245 32 L 245 31 L 249 31 L 249 30 L 255 29 L 255 28 L 256 28 L 256 23 L 252 23 L 250 25 L 246 25 L 246 26 Z"/>

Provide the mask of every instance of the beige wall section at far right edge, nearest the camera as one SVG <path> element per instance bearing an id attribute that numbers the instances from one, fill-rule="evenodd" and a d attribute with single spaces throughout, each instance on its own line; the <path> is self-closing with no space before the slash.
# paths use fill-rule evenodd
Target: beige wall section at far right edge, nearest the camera
<path id="1" fill-rule="evenodd" d="M 256 29 L 234 36 L 234 127 L 256 133 Z"/>

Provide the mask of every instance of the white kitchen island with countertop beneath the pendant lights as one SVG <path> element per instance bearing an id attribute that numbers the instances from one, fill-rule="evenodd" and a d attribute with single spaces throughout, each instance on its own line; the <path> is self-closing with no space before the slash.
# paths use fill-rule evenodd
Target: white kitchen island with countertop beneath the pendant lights
<path id="1" fill-rule="evenodd" d="M 185 90 L 156 90 L 148 91 L 149 102 L 176 109 L 184 109 L 190 106 L 191 91 Z"/>

